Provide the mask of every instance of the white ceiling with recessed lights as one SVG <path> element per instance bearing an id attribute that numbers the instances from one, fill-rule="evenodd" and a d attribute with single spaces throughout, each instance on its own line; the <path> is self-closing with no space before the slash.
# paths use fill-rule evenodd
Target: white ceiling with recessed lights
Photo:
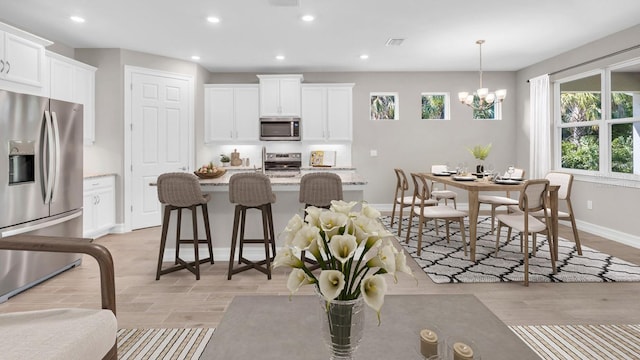
<path id="1" fill-rule="evenodd" d="M 640 24 L 639 0 L 0 0 L 0 21 L 73 48 L 214 72 L 519 70 Z M 311 23 L 303 14 L 313 14 Z M 71 15 L 86 19 L 83 24 Z M 220 23 L 206 21 L 217 16 Z M 385 46 L 389 38 L 406 39 Z M 278 54 L 285 60 L 275 60 Z M 369 59 L 361 60 L 361 54 Z"/>

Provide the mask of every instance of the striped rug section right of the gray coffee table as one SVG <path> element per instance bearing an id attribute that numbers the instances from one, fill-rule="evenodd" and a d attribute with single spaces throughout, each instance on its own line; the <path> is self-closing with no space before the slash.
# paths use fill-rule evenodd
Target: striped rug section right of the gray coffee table
<path id="1" fill-rule="evenodd" d="M 509 328 L 543 359 L 640 359 L 640 325 L 542 325 Z"/>

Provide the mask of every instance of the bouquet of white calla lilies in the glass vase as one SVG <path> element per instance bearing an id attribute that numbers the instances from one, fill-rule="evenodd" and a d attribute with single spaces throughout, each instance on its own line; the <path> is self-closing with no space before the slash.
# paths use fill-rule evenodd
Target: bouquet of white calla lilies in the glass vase
<path id="1" fill-rule="evenodd" d="M 327 302 L 354 300 L 360 296 L 378 314 L 384 303 L 387 283 L 383 274 L 398 272 L 413 276 L 404 251 L 398 251 L 393 235 L 380 223 L 380 212 L 362 203 L 332 201 L 330 209 L 308 207 L 303 219 L 295 215 L 280 234 L 284 247 L 273 261 L 273 268 L 292 268 L 287 288 L 294 294 L 303 285 L 315 285 Z M 312 272 L 301 259 L 311 254 L 321 271 Z"/>

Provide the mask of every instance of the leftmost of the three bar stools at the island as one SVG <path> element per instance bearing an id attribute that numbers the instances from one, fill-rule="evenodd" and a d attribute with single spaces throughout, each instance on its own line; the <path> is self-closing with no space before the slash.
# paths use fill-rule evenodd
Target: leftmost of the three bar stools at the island
<path id="1" fill-rule="evenodd" d="M 200 280 L 200 264 L 211 261 L 213 264 L 213 245 L 211 244 L 211 228 L 209 226 L 209 212 L 207 210 L 207 202 L 211 198 L 209 194 L 203 195 L 200 190 L 200 182 L 198 178 L 189 173 L 166 173 L 158 177 L 158 199 L 164 204 L 164 220 L 162 222 L 162 237 L 160 240 L 160 253 L 158 255 L 158 269 L 156 271 L 156 280 L 160 279 L 160 275 L 174 272 L 181 269 L 187 269 L 196 276 L 196 280 Z M 198 239 L 198 213 L 197 207 L 202 208 L 202 217 L 204 219 L 205 239 Z M 191 218 L 193 224 L 193 239 L 180 238 L 180 225 L 182 222 L 182 209 L 191 210 Z M 164 256 L 164 248 L 167 243 L 167 232 L 169 230 L 169 220 L 171 212 L 178 211 L 178 221 L 176 222 L 176 257 L 175 265 L 166 269 L 162 269 L 162 258 Z M 187 262 L 180 258 L 180 244 L 193 244 L 193 253 L 195 260 Z M 198 250 L 199 244 L 207 244 L 209 249 L 209 257 L 200 259 Z"/>

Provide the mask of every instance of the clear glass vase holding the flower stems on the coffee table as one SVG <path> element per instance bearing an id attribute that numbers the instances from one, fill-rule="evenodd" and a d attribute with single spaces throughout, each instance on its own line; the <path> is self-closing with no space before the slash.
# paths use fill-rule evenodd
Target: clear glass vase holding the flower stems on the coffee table
<path id="1" fill-rule="evenodd" d="M 364 330 L 364 299 L 332 300 L 320 298 L 322 337 L 331 360 L 353 359 Z"/>

